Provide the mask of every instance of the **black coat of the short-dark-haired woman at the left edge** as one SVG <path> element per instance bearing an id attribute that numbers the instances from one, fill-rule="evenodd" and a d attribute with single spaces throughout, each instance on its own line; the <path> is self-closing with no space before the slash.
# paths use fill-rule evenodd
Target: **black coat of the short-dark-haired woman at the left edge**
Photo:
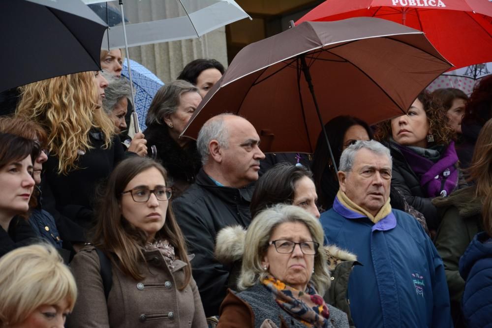
<path id="1" fill-rule="evenodd" d="M 40 241 L 29 222 L 21 216 L 14 216 L 8 231 L 0 227 L 0 257 L 16 248 Z"/>

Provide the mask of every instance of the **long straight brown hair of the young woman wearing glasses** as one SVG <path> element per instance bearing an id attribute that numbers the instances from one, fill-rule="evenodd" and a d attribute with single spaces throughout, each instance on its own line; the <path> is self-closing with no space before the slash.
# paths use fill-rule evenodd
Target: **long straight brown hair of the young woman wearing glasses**
<path id="1" fill-rule="evenodd" d="M 123 217 L 120 202 L 121 194 L 126 185 L 138 174 L 149 170 L 157 169 L 167 181 L 167 172 L 159 163 L 148 157 L 133 156 L 123 160 L 111 173 L 106 187 L 101 192 L 97 213 L 96 226 L 94 230 L 93 243 L 96 247 L 106 253 L 114 253 L 110 257 L 113 265 L 135 280 L 142 280 L 144 276 L 138 269 L 138 262 L 145 261 L 142 247 L 145 245 L 147 236 L 137 228 L 132 227 Z M 181 232 L 174 213 L 172 211 L 171 200 L 166 212 L 166 221 L 156 238 L 167 239 L 174 246 L 176 256 L 186 263 L 184 268 L 184 283 L 178 286 L 183 290 L 191 279 L 191 267 L 187 257 L 186 246 L 183 233 Z"/>

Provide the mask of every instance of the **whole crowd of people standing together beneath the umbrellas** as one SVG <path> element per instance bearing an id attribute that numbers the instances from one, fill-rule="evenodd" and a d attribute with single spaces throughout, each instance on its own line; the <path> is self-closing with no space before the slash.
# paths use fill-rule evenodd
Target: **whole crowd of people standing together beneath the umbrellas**
<path id="1" fill-rule="evenodd" d="M 130 138 L 122 63 L 102 50 L 102 71 L 20 87 L 0 118 L 0 327 L 492 323 L 492 77 L 264 154 L 226 108 L 180 137 L 216 60 Z"/>

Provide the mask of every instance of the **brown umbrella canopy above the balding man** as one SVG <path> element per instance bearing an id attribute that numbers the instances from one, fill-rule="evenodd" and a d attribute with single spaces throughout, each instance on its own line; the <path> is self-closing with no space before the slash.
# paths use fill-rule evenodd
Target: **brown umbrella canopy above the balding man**
<path id="1" fill-rule="evenodd" d="M 323 122 L 401 115 L 451 65 L 420 31 L 375 18 L 306 22 L 242 49 L 193 114 L 184 135 L 222 112 L 243 115 L 267 152 L 312 153 L 321 125 L 302 72 L 312 76 Z"/>

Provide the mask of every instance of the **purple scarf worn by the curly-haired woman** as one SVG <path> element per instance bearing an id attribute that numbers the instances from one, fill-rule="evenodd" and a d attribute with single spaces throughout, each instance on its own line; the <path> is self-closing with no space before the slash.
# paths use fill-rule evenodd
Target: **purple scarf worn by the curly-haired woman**
<path id="1" fill-rule="evenodd" d="M 412 149 L 398 145 L 407 163 L 417 176 L 420 176 L 420 185 L 427 192 L 427 197 L 447 196 L 458 184 L 458 155 L 455 143 L 449 143 L 437 162 L 423 157 Z"/>

